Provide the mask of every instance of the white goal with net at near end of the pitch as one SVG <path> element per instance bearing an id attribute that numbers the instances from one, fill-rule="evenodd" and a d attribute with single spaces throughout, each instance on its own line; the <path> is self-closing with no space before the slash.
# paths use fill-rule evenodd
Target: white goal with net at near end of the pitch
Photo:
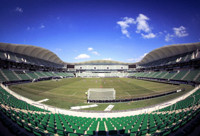
<path id="1" fill-rule="evenodd" d="M 90 88 L 88 90 L 88 100 L 114 100 L 114 88 Z"/>

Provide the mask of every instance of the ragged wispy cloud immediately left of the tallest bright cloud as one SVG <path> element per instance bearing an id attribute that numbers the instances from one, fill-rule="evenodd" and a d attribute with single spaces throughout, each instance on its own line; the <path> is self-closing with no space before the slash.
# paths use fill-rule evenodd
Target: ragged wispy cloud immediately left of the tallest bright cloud
<path id="1" fill-rule="evenodd" d="M 121 32 L 126 37 L 130 38 L 130 34 L 127 30 L 128 27 L 130 27 L 131 24 L 135 24 L 135 21 L 133 18 L 124 17 L 122 21 L 118 21 L 117 24 L 121 27 Z"/>

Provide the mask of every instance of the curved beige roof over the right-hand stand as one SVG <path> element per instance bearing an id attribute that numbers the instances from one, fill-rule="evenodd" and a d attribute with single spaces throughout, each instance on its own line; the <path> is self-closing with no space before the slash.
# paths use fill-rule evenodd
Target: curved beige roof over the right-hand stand
<path id="1" fill-rule="evenodd" d="M 159 59 L 191 52 L 197 49 L 200 49 L 200 42 L 163 46 L 149 52 L 141 61 L 138 62 L 138 64 L 146 64 Z"/>

